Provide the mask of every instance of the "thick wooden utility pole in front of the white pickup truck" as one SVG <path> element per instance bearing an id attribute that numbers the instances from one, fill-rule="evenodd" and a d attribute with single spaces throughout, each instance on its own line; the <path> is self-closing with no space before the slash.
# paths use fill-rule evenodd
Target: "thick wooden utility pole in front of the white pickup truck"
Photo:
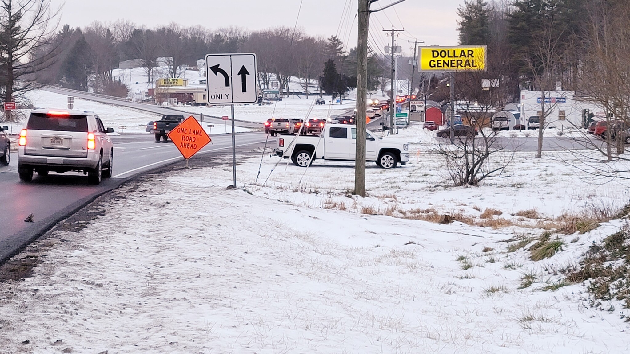
<path id="1" fill-rule="evenodd" d="M 405 0 L 394 1 L 382 8 L 370 11 L 370 5 L 379 0 L 358 0 L 357 37 L 357 150 L 355 155 L 355 190 L 358 196 L 365 197 L 365 136 L 367 127 L 367 37 L 370 13 L 384 10 Z M 393 33 L 393 32 L 392 32 Z M 393 99 L 393 98 L 392 98 Z"/>

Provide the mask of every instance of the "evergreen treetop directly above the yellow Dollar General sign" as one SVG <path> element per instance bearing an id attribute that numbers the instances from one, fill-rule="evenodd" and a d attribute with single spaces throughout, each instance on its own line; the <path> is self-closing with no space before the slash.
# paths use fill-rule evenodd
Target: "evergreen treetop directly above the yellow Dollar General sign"
<path id="1" fill-rule="evenodd" d="M 464 5 L 457 9 L 457 14 L 461 17 L 461 21 L 457 21 L 459 43 L 461 45 L 488 45 L 490 41 L 488 3 L 484 0 L 464 1 Z"/>

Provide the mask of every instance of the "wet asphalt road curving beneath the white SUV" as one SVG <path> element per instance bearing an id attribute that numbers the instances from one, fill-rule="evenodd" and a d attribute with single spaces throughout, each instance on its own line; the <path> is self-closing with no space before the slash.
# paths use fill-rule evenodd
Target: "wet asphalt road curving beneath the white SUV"
<path id="1" fill-rule="evenodd" d="M 265 133 L 239 133 L 236 146 L 251 149 L 265 142 Z M 20 182 L 18 157 L 13 153 L 9 166 L 0 167 L 0 263 L 18 252 L 31 240 L 43 235 L 60 219 L 81 209 L 96 197 L 118 187 L 125 180 L 148 170 L 183 160 L 171 141 L 156 142 L 149 133 L 112 136 L 114 143 L 113 178 L 100 185 L 89 185 L 88 178 L 68 172 L 35 177 L 31 183 Z M 212 136 L 212 143 L 195 157 L 231 152 L 231 135 Z M 37 175 L 36 175 L 37 176 Z M 34 215 L 33 223 L 24 219 Z"/>

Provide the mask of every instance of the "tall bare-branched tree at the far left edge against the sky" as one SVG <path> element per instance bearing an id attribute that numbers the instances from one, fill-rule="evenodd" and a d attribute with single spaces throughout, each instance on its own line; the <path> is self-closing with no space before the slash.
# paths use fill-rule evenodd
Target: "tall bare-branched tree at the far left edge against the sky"
<path id="1" fill-rule="evenodd" d="M 25 78 L 54 62 L 57 47 L 48 46 L 57 30 L 59 9 L 50 0 L 0 0 L 0 83 L 4 102 L 35 89 Z M 45 50 L 47 55 L 33 56 Z"/>

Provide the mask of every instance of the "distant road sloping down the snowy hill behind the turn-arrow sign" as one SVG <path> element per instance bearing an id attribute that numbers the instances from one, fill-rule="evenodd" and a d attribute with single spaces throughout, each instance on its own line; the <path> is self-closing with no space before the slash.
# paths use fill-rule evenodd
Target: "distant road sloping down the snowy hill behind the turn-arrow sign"
<path id="1" fill-rule="evenodd" d="M 185 113 L 183 111 L 178 111 L 176 109 L 156 106 L 154 104 L 125 101 L 124 99 L 118 99 L 116 97 L 106 97 L 102 95 L 89 94 L 88 92 L 62 89 L 62 88 L 54 87 L 54 86 L 45 86 L 45 87 L 42 87 L 42 90 L 54 92 L 55 94 L 62 94 L 62 95 L 77 97 L 81 99 L 88 99 L 89 101 L 101 102 L 105 104 L 115 104 L 117 106 L 139 109 L 140 111 L 146 111 L 146 112 L 151 112 L 151 113 L 156 113 L 156 114 L 190 114 L 190 113 Z M 191 114 L 191 115 L 197 118 L 197 120 L 199 120 L 198 114 Z M 203 121 L 209 122 L 209 123 L 224 124 L 224 121 L 221 119 L 221 117 L 207 116 L 205 114 L 203 114 Z M 234 125 L 241 126 L 243 128 L 263 128 L 262 123 L 239 121 L 238 119 L 234 120 Z"/>

